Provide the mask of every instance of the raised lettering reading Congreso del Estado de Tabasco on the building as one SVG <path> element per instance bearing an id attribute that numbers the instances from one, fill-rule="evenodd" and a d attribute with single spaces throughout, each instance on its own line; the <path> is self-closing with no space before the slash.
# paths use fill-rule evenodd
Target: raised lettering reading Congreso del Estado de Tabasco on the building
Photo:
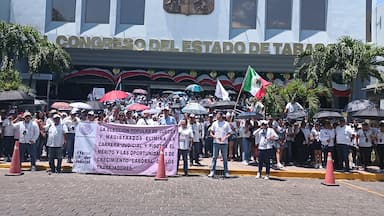
<path id="1" fill-rule="evenodd" d="M 271 43 L 242 41 L 160 40 L 142 38 L 79 37 L 59 35 L 56 43 L 65 48 L 125 49 L 134 51 L 297 55 L 325 46 L 322 43 Z"/>

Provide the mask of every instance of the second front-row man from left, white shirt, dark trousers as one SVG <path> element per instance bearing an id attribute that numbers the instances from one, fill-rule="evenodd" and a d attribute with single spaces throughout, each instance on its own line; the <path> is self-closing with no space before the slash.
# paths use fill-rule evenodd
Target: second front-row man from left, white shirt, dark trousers
<path id="1" fill-rule="evenodd" d="M 68 129 L 65 124 L 60 123 L 60 115 L 53 116 L 53 125 L 47 127 L 47 146 L 49 167 L 51 173 L 61 173 L 61 162 L 63 160 L 63 146 L 67 140 Z M 57 159 L 57 166 L 55 166 L 55 159 Z"/>

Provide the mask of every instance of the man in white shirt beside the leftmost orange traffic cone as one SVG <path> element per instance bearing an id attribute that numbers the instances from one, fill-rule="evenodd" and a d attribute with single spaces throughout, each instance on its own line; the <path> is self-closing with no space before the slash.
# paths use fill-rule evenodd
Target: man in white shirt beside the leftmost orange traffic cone
<path id="1" fill-rule="evenodd" d="M 24 154 L 29 153 L 31 156 L 31 171 L 36 171 L 36 141 L 40 135 L 39 126 L 35 121 L 32 121 L 31 113 L 25 112 L 23 121 L 17 122 L 15 128 L 20 132 L 20 162 L 24 158 Z"/>

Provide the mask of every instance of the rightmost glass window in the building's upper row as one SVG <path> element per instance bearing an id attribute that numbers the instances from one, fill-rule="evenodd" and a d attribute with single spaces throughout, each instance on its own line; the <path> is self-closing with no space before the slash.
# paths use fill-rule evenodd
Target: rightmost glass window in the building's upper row
<path id="1" fill-rule="evenodd" d="M 301 29 L 325 30 L 326 0 L 301 0 Z"/>

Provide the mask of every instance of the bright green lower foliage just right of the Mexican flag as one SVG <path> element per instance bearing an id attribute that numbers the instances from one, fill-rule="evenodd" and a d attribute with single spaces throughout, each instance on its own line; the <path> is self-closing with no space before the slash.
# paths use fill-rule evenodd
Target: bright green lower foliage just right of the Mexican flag
<path id="1" fill-rule="evenodd" d="M 296 99 L 308 110 L 309 115 L 313 116 L 320 108 L 320 97 L 329 99 L 331 97 L 330 89 L 325 86 L 317 86 L 313 80 L 303 82 L 294 79 L 284 87 L 275 84 L 268 86 L 263 104 L 265 104 L 267 115 L 281 117 L 286 104 L 292 99 Z"/>

